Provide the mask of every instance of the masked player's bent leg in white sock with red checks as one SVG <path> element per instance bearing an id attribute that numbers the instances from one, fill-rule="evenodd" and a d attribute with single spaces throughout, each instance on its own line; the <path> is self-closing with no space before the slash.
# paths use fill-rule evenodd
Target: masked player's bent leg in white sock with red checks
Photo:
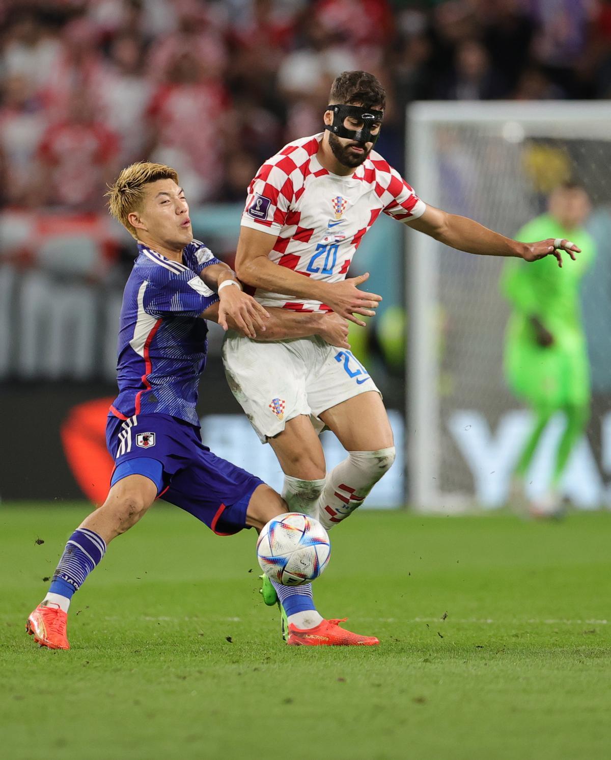
<path id="1" fill-rule="evenodd" d="M 389 470 L 395 461 L 395 445 L 377 391 L 348 398 L 319 416 L 348 451 L 348 458 L 327 475 L 318 502 L 318 519 L 329 530 L 361 506 Z"/>

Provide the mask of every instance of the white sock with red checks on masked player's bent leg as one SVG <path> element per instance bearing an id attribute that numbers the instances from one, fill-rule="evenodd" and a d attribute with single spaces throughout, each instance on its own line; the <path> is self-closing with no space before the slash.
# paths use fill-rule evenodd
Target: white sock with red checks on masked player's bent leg
<path id="1" fill-rule="evenodd" d="M 395 447 L 378 451 L 348 451 L 326 477 L 318 500 L 318 519 L 327 530 L 360 507 L 378 480 L 395 461 Z"/>

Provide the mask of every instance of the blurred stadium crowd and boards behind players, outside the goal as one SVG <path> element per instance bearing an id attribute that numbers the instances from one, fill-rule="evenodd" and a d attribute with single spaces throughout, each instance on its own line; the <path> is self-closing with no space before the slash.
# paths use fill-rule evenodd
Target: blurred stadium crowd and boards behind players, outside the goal
<path id="1" fill-rule="evenodd" d="M 0 6 L 0 32 L 2 499 L 103 499 L 102 431 L 134 255 L 103 206 L 105 183 L 121 166 L 143 157 L 175 166 L 195 236 L 231 264 L 247 183 L 279 146 L 320 130 L 339 71 L 365 68 L 385 84 L 378 149 L 399 169 L 414 100 L 611 93 L 611 4 L 594 0 L 9 0 Z M 599 198 L 597 269 L 584 300 L 586 319 L 594 314 L 598 325 L 587 322 L 597 394 L 589 438 L 604 473 L 600 430 L 611 373 L 600 325 L 611 306 L 611 217 L 606 192 Z M 509 188 L 505 200 L 512 202 Z M 385 394 L 399 447 L 410 310 L 404 261 L 402 227 L 380 219 L 351 270 L 370 270 L 371 289 L 384 296 L 354 348 Z M 474 321 L 477 313 L 474 299 Z M 254 445 L 226 388 L 221 337 L 213 330 L 200 405 L 206 442 L 274 483 L 277 464 Z M 404 487 L 395 466 L 374 500 L 403 504 Z"/>

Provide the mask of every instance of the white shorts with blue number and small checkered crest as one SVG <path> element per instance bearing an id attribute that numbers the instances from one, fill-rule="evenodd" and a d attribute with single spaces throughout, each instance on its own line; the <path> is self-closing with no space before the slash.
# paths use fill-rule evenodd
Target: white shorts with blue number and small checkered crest
<path id="1" fill-rule="evenodd" d="M 298 414 L 320 433 L 321 413 L 365 391 L 380 393 L 350 351 L 317 336 L 266 343 L 230 330 L 222 357 L 229 388 L 263 443 Z"/>

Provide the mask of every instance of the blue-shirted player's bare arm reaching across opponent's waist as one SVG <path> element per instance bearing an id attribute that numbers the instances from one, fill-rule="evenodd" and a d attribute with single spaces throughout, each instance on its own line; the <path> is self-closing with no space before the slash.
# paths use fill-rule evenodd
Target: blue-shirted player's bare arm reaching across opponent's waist
<path id="1" fill-rule="evenodd" d="M 288 309 L 267 309 L 269 318 L 266 320 L 264 330 L 259 330 L 254 340 L 287 340 L 295 337 L 309 337 L 320 335 L 326 343 L 340 348 L 350 348 L 348 344 L 348 322 L 333 312 L 311 312 L 296 314 Z M 209 306 L 202 317 L 219 321 L 219 304 Z M 236 322 L 228 317 L 228 325 L 231 330 L 237 330 L 246 334 Z"/>

